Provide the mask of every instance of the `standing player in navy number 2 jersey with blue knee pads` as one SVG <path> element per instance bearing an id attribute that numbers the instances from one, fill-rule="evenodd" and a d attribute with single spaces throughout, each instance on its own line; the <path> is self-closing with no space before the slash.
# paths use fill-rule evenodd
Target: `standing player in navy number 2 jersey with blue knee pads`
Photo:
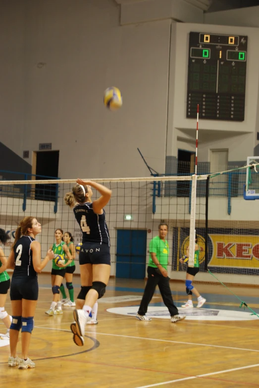
<path id="1" fill-rule="evenodd" d="M 35 363 L 28 358 L 31 333 L 34 327 L 34 313 L 38 301 L 38 272 L 52 260 L 51 249 L 41 261 L 41 244 L 35 236 L 42 227 L 35 217 L 24 217 L 15 232 L 7 268 L 13 269 L 10 298 L 12 306 L 12 323 L 10 326 L 10 352 L 8 366 L 19 369 L 35 368 Z M 17 357 L 16 348 L 19 331 L 22 329 L 22 358 Z"/>

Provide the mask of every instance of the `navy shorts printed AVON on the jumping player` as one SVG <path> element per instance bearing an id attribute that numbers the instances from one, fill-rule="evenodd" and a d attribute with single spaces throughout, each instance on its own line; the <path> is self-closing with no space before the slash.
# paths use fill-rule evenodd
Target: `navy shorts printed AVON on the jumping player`
<path id="1" fill-rule="evenodd" d="M 79 264 L 110 265 L 110 247 L 107 244 L 84 242 L 79 252 Z"/>

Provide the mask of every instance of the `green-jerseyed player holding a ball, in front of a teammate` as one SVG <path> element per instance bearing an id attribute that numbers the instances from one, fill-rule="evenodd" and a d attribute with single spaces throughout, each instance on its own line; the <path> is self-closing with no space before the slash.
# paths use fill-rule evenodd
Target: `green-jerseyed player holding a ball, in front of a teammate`
<path id="1" fill-rule="evenodd" d="M 62 240 L 63 231 L 62 229 L 55 230 L 55 239 L 56 242 L 51 246 L 51 249 L 54 252 L 55 257 L 57 255 L 67 256 L 68 260 L 65 264 L 56 264 L 55 257 L 52 260 L 52 293 L 53 300 L 50 307 L 50 310 L 45 311 L 47 315 L 63 314 L 61 302 L 59 298 L 59 289 L 62 283 L 62 280 L 66 273 L 66 267 L 72 262 L 72 256 L 69 252 L 69 249 L 65 242 Z"/>

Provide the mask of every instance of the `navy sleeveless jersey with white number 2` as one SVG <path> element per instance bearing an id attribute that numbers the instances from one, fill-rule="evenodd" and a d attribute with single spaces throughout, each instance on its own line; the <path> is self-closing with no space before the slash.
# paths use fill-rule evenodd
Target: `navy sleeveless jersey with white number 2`
<path id="1" fill-rule="evenodd" d="M 31 243 L 35 241 L 31 236 L 21 236 L 13 247 L 14 271 L 12 277 L 37 277 L 33 268 Z"/>

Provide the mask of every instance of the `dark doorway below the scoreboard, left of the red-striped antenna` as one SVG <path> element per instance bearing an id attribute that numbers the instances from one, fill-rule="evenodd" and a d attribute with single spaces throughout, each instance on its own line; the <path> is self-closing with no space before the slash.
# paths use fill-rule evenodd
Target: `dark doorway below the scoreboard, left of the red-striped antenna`
<path id="1" fill-rule="evenodd" d="M 178 150 L 177 175 L 194 174 L 195 153 L 191 151 Z M 177 197 L 189 197 L 190 181 L 177 181 Z"/>

